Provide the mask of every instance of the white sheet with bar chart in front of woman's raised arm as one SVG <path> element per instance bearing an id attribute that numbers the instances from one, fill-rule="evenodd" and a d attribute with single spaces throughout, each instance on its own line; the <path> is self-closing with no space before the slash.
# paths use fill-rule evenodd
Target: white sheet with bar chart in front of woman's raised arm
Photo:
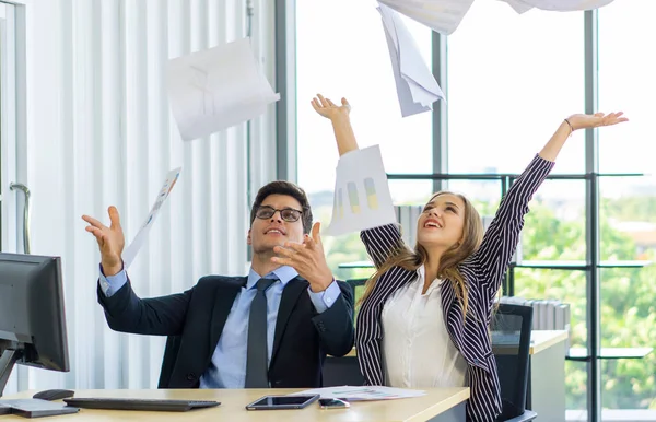
<path id="1" fill-rule="evenodd" d="M 339 159 L 336 173 L 329 235 L 396 223 L 378 145 L 345 153 Z"/>

